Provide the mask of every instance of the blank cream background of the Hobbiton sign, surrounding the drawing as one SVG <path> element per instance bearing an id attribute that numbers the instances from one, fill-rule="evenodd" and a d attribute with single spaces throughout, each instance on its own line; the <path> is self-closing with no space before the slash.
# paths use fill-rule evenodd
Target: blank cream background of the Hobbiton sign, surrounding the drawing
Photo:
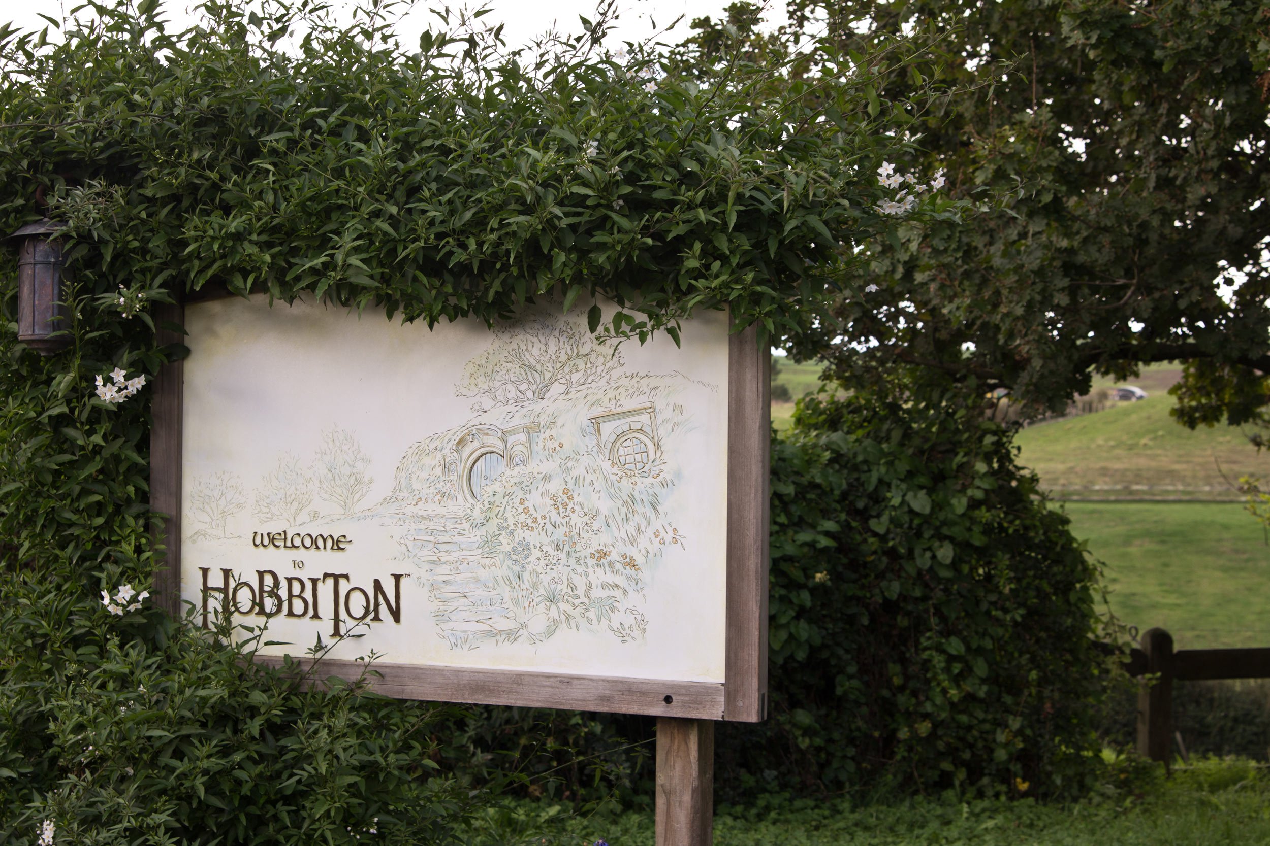
<path id="1" fill-rule="evenodd" d="M 311 457 L 321 431 L 334 424 L 357 433 L 371 457 L 375 483 L 363 507 L 378 502 L 411 444 L 472 417 L 472 398 L 455 396 L 453 386 L 464 365 L 489 346 L 489 330 L 478 321 L 460 321 L 429 331 L 422 323 L 390 322 L 377 312 L 300 303 L 269 307 L 260 297 L 192 304 L 185 322 L 190 355 L 184 386 L 183 597 L 197 604 L 199 567 L 211 567 L 213 576 L 230 567 L 244 580 L 254 580 L 254 572 L 264 568 L 305 578 L 348 572 L 352 585 L 367 590 L 375 577 L 390 587 L 390 573 L 409 572 L 411 564 L 394 561 L 392 534 L 399 529 L 370 523 L 340 524 L 349 525 L 339 530 L 354 542 L 344 553 L 253 549 L 250 537 L 259 521 L 251 517 L 250 504 L 230 521 L 240 540 L 190 543 L 197 526 L 188 515 L 189 488 L 196 478 L 217 471 L 232 471 L 251 488 L 279 453 Z M 384 623 L 362 629 L 364 637 L 339 643 L 330 657 L 356 658 L 373 649 L 390 662 L 723 681 L 726 321 L 706 313 L 687 323 L 682 349 L 658 336 L 643 346 L 627 341 L 621 354 L 624 372 L 677 373 L 718 387 L 691 384 L 681 397 L 692 424 L 685 435 L 691 449 L 668 457 L 678 462 L 681 474 L 671 519 L 685 526 L 691 542 L 687 550 L 667 552 L 649 573 L 646 639 L 621 643 L 607 633 L 565 630 L 536 644 L 453 651 L 438 637 L 424 587 L 404 578 L 401 624 L 385 615 Z M 295 558 L 306 562 L 304 571 L 292 568 Z M 321 599 L 330 605 L 329 586 Z M 263 618 L 243 621 L 258 625 Z M 277 616 L 269 621 L 268 639 L 295 646 L 263 652 L 302 654 L 318 634 L 329 641 L 329 619 Z"/>

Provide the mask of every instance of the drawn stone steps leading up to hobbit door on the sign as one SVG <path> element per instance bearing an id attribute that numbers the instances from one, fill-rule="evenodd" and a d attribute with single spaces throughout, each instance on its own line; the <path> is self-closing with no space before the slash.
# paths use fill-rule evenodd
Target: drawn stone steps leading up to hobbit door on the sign
<path id="1" fill-rule="evenodd" d="M 433 506 L 411 523 L 417 525 L 400 540 L 409 559 L 423 569 L 432 618 L 451 648 L 472 648 L 514 628 L 493 573 L 481 566 L 480 539 L 462 507 Z"/>

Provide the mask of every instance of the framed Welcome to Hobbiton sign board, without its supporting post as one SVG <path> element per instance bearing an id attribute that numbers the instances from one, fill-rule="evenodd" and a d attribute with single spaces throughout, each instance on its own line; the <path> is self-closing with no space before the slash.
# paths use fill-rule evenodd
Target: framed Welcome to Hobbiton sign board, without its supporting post
<path id="1" fill-rule="evenodd" d="M 584 315 L 583 309 L 583 315 Z M 490 331 L 263 297 L 173 307 L 152 501 L 170 610 L 409 699 L 695 719 L 766 708 L 768 355 L 582 315 Z M 178 336 L 173 332 L 171 340 Z"/>

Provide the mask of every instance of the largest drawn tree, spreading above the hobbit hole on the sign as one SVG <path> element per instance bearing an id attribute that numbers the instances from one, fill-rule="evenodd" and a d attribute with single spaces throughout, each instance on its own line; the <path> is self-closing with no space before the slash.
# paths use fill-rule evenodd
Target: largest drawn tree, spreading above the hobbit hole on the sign
<path id="1" fill-rule="evenodd" d="M 494 342 L 464 367 L 455 393 L 495 405 L 536 402 L 598 382 L 620 365 L 616 348 L 602 346 L 578 323 L 538 317 L 497 329 Z"/>

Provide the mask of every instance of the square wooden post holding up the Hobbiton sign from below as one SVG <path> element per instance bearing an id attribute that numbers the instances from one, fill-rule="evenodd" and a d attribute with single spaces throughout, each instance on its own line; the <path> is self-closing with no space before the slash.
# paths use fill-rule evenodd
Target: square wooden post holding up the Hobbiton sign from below
<path id="1" fill-rule="evenodd" d="M 657 718 L 657 846 L 714 841 L 714 720 Z"/>

